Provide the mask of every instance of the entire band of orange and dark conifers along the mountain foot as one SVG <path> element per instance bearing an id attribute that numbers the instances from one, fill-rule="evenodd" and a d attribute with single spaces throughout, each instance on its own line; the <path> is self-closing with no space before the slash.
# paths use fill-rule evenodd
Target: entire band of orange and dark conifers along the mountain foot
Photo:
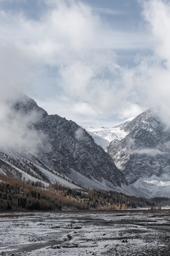
<path id="1" fill-rule="evenodd" d="M 116 191 L 76 190 L 58 183 L 45 187 L 43 182 L 22 181 L 0 174 L 0 209 L 17 210 L 118 210 L 156 206 L 156 201 L 128 196 Z"/>

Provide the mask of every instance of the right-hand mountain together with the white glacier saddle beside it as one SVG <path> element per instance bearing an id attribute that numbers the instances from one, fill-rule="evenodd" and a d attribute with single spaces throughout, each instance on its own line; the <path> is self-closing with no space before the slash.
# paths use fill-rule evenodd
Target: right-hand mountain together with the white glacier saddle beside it
<path id="1" fill-rule="evenodd" d="M 111 128 L 86 127 L 128 182 L 151 197 L 170 197 L 170 129 L 152 108 Z M 108 141 L 109 142 L 109 141 Z M 105 144 L 103 144 L 105 146 Z"/>

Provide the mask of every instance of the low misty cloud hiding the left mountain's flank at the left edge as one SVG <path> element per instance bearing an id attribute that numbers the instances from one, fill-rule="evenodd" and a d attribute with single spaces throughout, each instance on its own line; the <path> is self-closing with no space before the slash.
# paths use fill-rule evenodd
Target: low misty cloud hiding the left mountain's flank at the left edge
<path id="1" fill-rule="evenodd" d="M 0 103 L 0 147 L 21 153 L 35 154 L 42 149 L 46 136 L 33 127 L 40 115 L 36 111 L 22 114 L 11 107 L 11 102 Z"/>

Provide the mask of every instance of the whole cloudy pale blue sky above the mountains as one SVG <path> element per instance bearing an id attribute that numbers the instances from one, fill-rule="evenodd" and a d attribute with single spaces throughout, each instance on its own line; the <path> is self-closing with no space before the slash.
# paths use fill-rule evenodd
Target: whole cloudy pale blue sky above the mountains
<path id="1" fill-rule="evenodd" d="M 1 94 L 113 126 L 160 106 L 169 120 L 170 2 L 0 0 Z"/>

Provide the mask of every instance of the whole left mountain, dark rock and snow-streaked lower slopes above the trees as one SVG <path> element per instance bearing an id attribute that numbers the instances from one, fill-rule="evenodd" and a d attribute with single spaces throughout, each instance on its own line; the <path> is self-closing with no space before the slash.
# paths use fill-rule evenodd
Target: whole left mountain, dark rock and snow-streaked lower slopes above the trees
<path id="1" fill-rule="evenodd" d="M 85 186 L 144 195 L 128 184 L 109 154 L 75 122 L 48 115 L 33 99 L 23 94 L 10 105 L 10 109 L 10 121 L 17 117 L 22 126 L 26 120 L 28 131 L 24 131 L 23 138 L 34 135 L 33 140 L 32 137 L 27 139 L 30 148 L 37 139 L 39 146 L 29 150 L 27 145 L 20 148 L 1 145 L 1 172 L 26 180 L 41 180 L 45 184 L 58 182 L 70 187 Z"/>

